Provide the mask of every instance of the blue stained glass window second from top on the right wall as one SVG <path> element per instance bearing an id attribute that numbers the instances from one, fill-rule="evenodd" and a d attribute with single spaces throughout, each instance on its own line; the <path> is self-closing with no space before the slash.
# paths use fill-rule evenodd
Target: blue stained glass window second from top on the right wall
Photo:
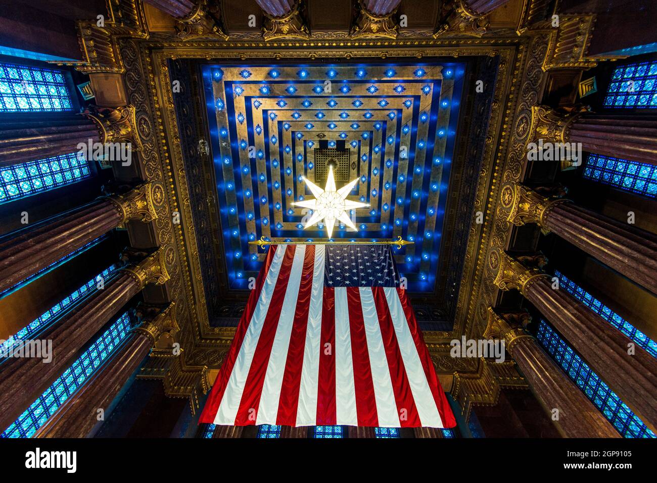
<path id="1" fill-rule="evenodd" d="M 657 198 L 657 166 L 654 165 L 589 154 L 583 176 L 621 190 Z"/>

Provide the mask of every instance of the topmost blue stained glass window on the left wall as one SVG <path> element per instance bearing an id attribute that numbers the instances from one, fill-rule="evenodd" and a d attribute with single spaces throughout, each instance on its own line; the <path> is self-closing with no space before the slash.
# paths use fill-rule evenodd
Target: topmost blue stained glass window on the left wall
<path id="1" fill-rule="evenodd" d="M 72 110 L 64 72 L 0 63 L 0 112 Z"/>

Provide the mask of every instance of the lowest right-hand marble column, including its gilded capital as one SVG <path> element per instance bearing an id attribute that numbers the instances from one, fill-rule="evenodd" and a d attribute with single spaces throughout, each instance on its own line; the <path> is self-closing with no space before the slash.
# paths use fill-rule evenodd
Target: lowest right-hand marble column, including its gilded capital
<path id="1" fill-rule="evenodd" d="M 518 364 L 562 436 L 620 438 L 611 423 L 524 330 L 530 321 L 526 312 L 498 313 L 489 307 L 484 338 L 505 341 L 507 352 Z M 558 419 L 553 417 L 555 409 L 558 410 Z"/>

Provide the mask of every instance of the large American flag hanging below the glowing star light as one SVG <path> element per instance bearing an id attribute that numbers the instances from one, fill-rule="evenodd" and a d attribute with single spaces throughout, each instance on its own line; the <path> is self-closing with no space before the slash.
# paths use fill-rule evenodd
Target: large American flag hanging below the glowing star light
<path id="1" fill-rule="evenodd" d="M 455 426 L 390 246 L 271 246 L 200 422 Z"/>

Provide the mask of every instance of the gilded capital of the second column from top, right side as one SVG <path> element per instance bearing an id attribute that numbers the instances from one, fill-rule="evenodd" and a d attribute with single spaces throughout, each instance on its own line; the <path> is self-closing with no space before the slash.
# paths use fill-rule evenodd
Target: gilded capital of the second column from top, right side
<path id="1" fill-rule="evenodd" d="M 543 196 L 522 184 L 507 182 L 500 190 L 501 209 L 507 215 L 507 221 L 516 226 L 536 223 L 545 227 L 545 216 L 558 203 L 565 203 L 563 198 Z"/>

